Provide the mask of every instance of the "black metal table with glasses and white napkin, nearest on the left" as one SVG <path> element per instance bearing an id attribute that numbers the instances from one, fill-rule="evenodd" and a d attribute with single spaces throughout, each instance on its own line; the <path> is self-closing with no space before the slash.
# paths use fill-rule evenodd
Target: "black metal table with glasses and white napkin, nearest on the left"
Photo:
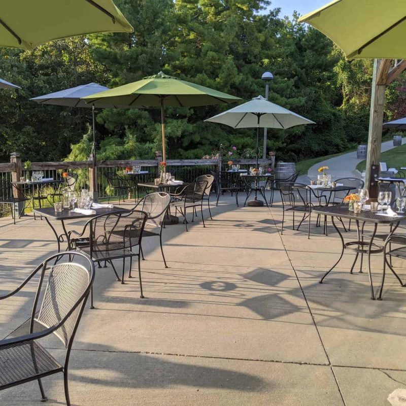
<path id="1" fill-rule="evenodd" d="M 86 215 L 82 213 L 76 213 L 72 210 L 62 210 L 61 212 L 55 212 L 55 209 L 53 207 L 47 207 L 44 209 L 35 209 L 34 212 L 44 216 L 45 220 L 47 221 L 48 225 L 51 227 L 53 233 L 55 234 L 56 237 L 56 242 L 58 244 L 58 252 L 60 252 L 60 244 L 63 243 L 66 239 L 66 244 L 67 244 L 67 249 L 70 248 L 69 244 L 69 236 L 65 227 L 65 220 L 80 220 L 80 219 L 88 219 L 90 220 L 91 218 L 95 216 L 99 216 L 100 214 L 111 214 L 111 213 L 120 213 L 120 212 L 125 212 L 125 209 L 118 208 L 118 207 L 113 207 L 113 209 L 110 208 L 100 208 L 100 209 L 92 209 L 96 212 L 96 214 L 91 214 L 91 215 Z M 54 226 L 51 224 L 49 220 L 58 220 L 61 222 L 63 233 L 59 234 L 56 232 Z"/>

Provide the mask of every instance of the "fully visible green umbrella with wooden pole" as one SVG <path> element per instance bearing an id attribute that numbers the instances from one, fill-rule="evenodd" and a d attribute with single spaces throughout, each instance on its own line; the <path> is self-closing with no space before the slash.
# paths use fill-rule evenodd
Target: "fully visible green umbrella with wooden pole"
<path id="1" fill-rule="evenodd" d="M 120 105 L 129 107 L 160 107 L 162 123 L 162 158 L 165 153 L 164 106 L 198 107 L 219 105 L 241 100 L 240 97 L 186 82 L 159 72 L 137 82 L 83 97 L 86 103 Z"/>

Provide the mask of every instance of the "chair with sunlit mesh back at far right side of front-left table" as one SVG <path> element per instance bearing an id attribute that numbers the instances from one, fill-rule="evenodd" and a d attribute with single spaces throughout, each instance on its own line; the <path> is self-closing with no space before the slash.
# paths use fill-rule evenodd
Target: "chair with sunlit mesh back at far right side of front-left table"
<path id="1" fill-rule="evenodd" d="M 167 268 L 165 256 L 163 255 L 162 248 L 162 228 L 165 225 L 165 217 L 168 213 L 169 205 L 171 202 L 171 196 L 168 193 L 156 192 L 150 193 L 144 196 L 138 204 L 132 209 L 137 208 L 145 213 L 147 213 L 148 218 L 145 223 L 143 238 L 153 237 L 159 235 L 159 245 L 161 247 L 162 259 Z M 154 231 L 159 228 L 159 232 Z M 143 249 L 141 248 L 141 256 L 144 259 Z"/>

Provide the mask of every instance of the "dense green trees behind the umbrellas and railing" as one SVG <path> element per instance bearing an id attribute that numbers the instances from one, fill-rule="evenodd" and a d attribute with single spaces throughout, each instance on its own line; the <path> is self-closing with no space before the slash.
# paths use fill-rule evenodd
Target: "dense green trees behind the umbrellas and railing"
<path id="1" fill-rule="evenodd" d="M 347 62 L 319 31 L 282 18 L 264 0 L 117 0 L 133 33 L 55 41 L 32 52 L 1 49 L 0 77 L 22 90 L 0 90 L 0 159 L 86 159 L 90 109 L 41 106 L 30 97 L 79 84 L 109 87 L 159 71 L 245 100 L 264 93 L 261 75 L 274 74 L 269 99 L 316 122 L 268 130 L 268 150 L 297 161 L 343 151 L 367 139 L 372 63 Z M 387 118 L 405 115 L 401 77 L 388 87 Z M 200 158 L 235 146 L 252 149 L 254 129 L 205 123 L 230 105 L 167 108 L 168 158 Z M 162 148 L 159 109 L 97 112 L 100 159 L 152 158 Z"/>

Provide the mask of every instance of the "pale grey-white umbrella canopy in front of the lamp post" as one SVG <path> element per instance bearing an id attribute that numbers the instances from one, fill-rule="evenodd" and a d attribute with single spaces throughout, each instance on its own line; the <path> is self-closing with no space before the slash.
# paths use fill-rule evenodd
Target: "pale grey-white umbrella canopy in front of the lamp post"
<path id="1" fill-rule="evenodd" d="M 234 107 L 217 116 L 208 118 L 211 121 L 229 125 L 233 128 L 289 128 L 300 124 L 315 124 L 284 107 L 278 106 L 262 96 L 254 97 L 240 106 Z"/>

